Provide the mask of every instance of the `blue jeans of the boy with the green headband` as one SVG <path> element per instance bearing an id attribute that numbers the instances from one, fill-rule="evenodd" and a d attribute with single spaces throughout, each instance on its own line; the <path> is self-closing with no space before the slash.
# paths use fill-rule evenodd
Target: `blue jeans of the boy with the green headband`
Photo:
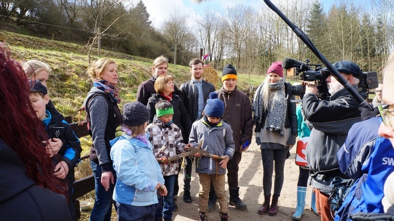
<path id="1" fill-rule="evenodd" d="M 177 175 L 164 176 L 164 185 L 167 188 L 167 195 L 163 197 L 159 195 L 159 191 L 157 191 L 157 200 L 159 200 L 159 205 L 157 206 L 157 210 L 156 210 L 156 219 L 172 218 L 172 210 L 174 209 L 174 199 L 172 195 L 174 193 L 174 185 L 176 178 Z"/>

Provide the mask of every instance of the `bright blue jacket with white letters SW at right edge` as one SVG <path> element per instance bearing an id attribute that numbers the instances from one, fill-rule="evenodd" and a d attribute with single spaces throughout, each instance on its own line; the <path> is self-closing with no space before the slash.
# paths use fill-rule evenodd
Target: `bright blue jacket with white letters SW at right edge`
<path id="1" fill-rule="evenodd" d="M 337 153 L 341 172 L 358 179 L 351 187 L 335 220 L 349 220 L 356 212 L 382 213 L 383 184 L 394 171 L 394 148 L 378 135 L 379 117 L 354 124 Z"/>

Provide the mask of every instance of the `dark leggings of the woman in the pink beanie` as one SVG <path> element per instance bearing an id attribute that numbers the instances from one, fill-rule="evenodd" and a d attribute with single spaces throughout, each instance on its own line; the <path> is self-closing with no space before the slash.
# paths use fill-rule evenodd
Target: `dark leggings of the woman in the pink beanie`
<path id="1" fill-rule="evenodd" d="M 275 185 L 273 187 L 273 195 L 280 196 L 283 181 L 284 169 L 287 152 L 289 147 L 283 149 L 261 149 L 261 159 L 263 161 L 263 190 L 264 195 L 271 195 L 272 173 L 275 169 Z M 275 161 L 275 166 L 274 166 Z"/>

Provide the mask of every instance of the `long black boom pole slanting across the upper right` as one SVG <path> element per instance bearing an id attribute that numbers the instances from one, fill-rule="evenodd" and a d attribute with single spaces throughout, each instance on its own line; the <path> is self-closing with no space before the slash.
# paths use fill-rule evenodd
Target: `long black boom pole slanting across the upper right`
<path id="1" fill-rule="evenodd" d="M 306 36 L 306 34 L 295 26 L 291 21 L 269 0 L 264 0 L 265 4 L 272 9 L 275 13 L 277 13 L 282 20 L 294 31 L 294 33 L 305 43 L 305 45 L 315 54 L 327 67 L 331 74 L 334 75 L 335 78 L 345 87 L 345 89 L 357 100 L 360 102 L 360 106 L 369 108 L 370 111 L 373 110 L 373 107 L 361 96 L 352 85 L 345 80 L 345 78 L 334 69 L 332 64 L 327 60 L 327 58 L 313 45 L 312 41 Z"/>

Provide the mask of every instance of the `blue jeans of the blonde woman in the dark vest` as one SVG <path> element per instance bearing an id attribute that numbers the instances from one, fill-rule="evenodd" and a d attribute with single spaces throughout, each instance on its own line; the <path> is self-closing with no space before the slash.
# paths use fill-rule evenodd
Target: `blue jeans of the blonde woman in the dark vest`
<path id="1" fill-rule="evenodd" d="M 111 184 L 108 191 L 101 185 L 101 166 L 99 163 L 90 161 L 94 176 L 94 189 L 96 201 L 94 202 L 90 221 L 110 221 L 112 213 L 112 193 L 114 185 Z"/>

